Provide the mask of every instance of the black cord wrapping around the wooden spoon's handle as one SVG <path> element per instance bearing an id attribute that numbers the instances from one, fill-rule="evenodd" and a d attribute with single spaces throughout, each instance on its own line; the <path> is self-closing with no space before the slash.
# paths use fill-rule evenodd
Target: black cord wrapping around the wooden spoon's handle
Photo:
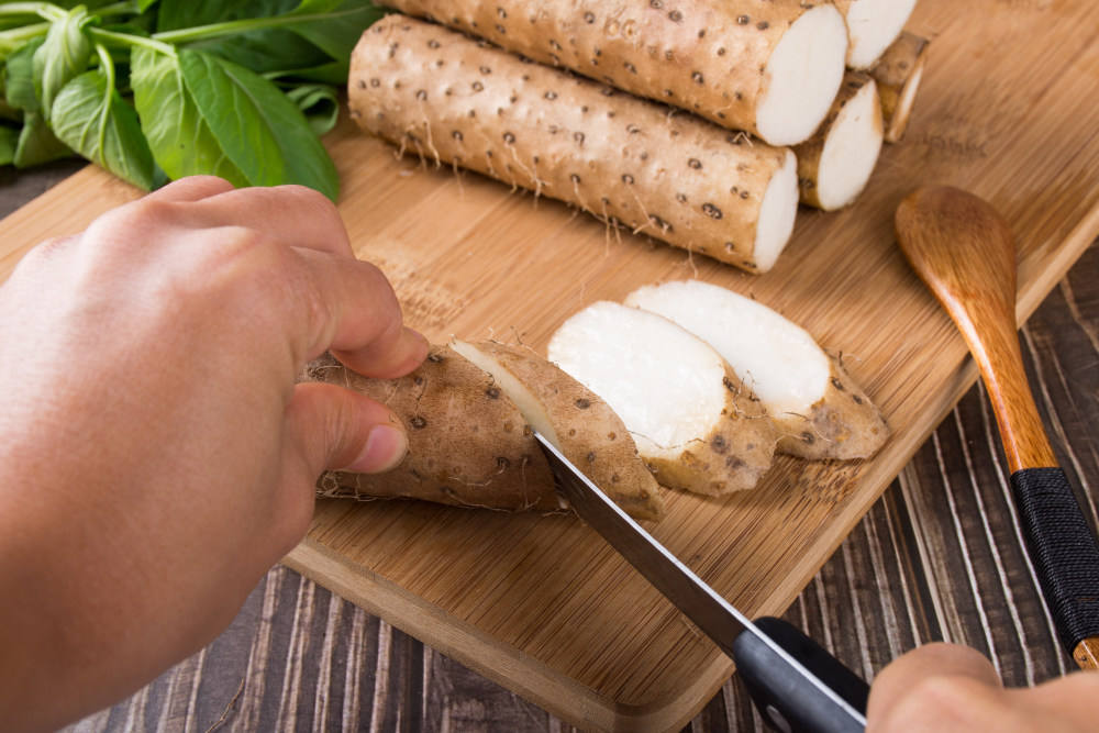
<path id="1" fill-rule="evenodd" d="M 1073 652 L 1099 636 L 1099 545 L 1061 468 L 1023 468 L 1011 491 L 1054 625 Z"/>

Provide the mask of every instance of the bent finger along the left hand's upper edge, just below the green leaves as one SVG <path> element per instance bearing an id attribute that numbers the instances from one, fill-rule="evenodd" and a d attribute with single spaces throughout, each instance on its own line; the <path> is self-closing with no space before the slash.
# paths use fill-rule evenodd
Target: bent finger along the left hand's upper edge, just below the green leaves
<path id="1" fill-rule="evenodd" d="M 196 226 L 243 226 L 284 246 L 355 256 L 335 204 L 304 186 L 224 190 L 202 199 L 189 215 Z"/>

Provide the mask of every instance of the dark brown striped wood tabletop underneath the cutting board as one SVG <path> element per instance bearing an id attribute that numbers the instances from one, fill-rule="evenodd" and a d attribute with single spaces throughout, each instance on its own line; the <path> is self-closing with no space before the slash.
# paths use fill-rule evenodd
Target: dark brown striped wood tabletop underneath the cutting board
<path id="1" fill-rule="evenodd" d="M 0 215 L 77 169 L 0 168 Z M 1020 332 L 1057 456 L 1099 526 L 1099 242 Z M 930 641 L 1010 686 L 1074 669 L 1021 547 L 980 385 L 901 471 L 786 619 L 872 678 Z M 762 730 L 734 677 L 685 730 Z M 275 567 L 210 646 L 74 731 L 569 731 L 507 689 Z"/>

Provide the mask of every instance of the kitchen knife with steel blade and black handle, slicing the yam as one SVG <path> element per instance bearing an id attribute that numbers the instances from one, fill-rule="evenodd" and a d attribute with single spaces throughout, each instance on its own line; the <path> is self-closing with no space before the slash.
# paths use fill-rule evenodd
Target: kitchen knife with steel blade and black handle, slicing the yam
<path id="1" fill-rule="evenodd" d="M 866 728 L 869 687 L 811 638 L 780 619 L 754 623 L 619 509 L 542 434 L 557 488 L 603 536 L 736 663 L 764 720 L 780 731 L 839 733 Z"/>

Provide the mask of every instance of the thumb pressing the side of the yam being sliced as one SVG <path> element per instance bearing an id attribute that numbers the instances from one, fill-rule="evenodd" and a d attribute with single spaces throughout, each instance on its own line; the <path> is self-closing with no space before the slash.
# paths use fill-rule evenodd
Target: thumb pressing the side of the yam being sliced
<path id="1" fill-rule="evenodd" d="M 337 385 L 301 384 L 286 410 L 284 452 L 296 454 L 293 474 L 312 485 L 325 469 L 378 474 L 408 452 L 400 419 L 380 402 Z"/>

